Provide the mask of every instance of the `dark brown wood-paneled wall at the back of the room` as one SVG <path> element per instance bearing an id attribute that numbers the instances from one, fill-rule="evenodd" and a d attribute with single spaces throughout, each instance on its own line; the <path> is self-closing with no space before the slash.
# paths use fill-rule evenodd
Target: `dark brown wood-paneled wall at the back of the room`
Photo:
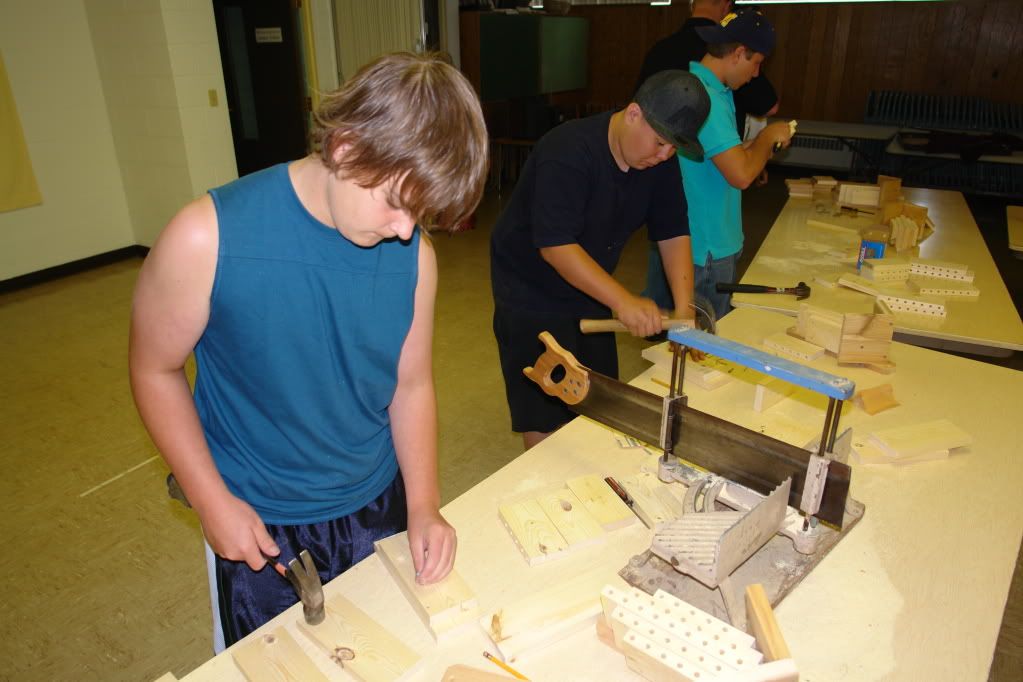
<path id="1" fill-rule="evenodd" d="M 764 12 L 777 31 L 765 71 L 782 116 L 861 122 L 872 90 L 1023 102 L 1021 0 L 779 5 Z M 590 19 L 590 85 L 551 100 L 592 110 L 628 100 L 647 50 L 685 20 L 688 3 L 585 5 L 571 13 Z"/>

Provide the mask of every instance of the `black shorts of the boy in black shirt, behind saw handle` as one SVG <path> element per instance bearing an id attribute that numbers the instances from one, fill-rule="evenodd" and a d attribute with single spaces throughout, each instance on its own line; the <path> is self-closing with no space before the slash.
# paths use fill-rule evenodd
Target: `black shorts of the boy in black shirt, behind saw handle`
<path id="1" fill-rule="evenodd" d="M 538 338 L 549 331 L 554 339 L 576 357 L 581 364 L 612 378 L 618 378 L 618 349 L 615 334 L 610 332 L 584 334 L 579 331 L 579 318 L 568 315 L 533 313 L 494 306 L 494 336 L 501 358 L 504 391 L 511 411 L 511 430 L 517 433 L 549 433 L 575 417 L 558 398 L 523 374 L 532 367 L 544 351 Z"/>

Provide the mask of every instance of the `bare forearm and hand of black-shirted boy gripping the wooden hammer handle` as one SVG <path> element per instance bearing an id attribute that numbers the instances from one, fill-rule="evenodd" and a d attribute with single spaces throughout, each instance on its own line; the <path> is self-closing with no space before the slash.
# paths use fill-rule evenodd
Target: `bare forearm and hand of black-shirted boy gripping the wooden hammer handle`
<path id="1" fill-rule="evenodd" d="M 579 244 L 544 246 L 540 257 L 565 280 L 614 311 L 636 336 L 661 331 L 661 311 L 650 299 L 631 293 L 609 275 Z"/>

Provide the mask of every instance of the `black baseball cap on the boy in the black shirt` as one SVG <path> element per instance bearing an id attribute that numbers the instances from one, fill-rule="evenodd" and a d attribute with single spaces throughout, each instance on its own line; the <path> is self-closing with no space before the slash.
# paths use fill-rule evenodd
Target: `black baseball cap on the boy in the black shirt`
<path id="1" fill-rule="evenodd" d="M 710 111 L 710 97 L 700 79 L 680 70 L 658 72 L 643 81 L 633 101 L 654 132 L 686 156 L 703 161 L 697 133 Z"/>

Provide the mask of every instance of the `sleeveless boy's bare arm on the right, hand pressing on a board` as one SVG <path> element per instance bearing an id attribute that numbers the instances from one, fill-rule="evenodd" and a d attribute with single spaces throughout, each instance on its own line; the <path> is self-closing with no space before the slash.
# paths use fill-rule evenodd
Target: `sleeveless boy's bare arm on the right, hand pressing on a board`
<path id="1" fill-rule="evenodd" d="M 437 257 L 424 235 L 419 239 L 419 277 L 415 312 L 398 361 L 398 387 L 389 413 L 398 466 L 408 503 L 408 546 L 416 581 L 435 583 L 454 565 L 454 529 L 440 512 L 437 480 L 437 395 L 434 392 L 434 300 Z"/>

